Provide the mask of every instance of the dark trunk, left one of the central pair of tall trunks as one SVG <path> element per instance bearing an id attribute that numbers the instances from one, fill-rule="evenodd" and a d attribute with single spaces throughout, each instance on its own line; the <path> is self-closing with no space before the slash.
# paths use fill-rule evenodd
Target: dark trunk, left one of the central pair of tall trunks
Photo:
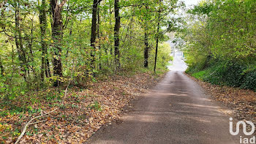
<path id="1" fill-rule="evenodd" d="M 92 5 L 92 18 L 91 18 L 91 69 L 95 69 L 95 41 L 97 37 L 97 10 L 98 10 L 98 0 L 94 0 Z"/>

